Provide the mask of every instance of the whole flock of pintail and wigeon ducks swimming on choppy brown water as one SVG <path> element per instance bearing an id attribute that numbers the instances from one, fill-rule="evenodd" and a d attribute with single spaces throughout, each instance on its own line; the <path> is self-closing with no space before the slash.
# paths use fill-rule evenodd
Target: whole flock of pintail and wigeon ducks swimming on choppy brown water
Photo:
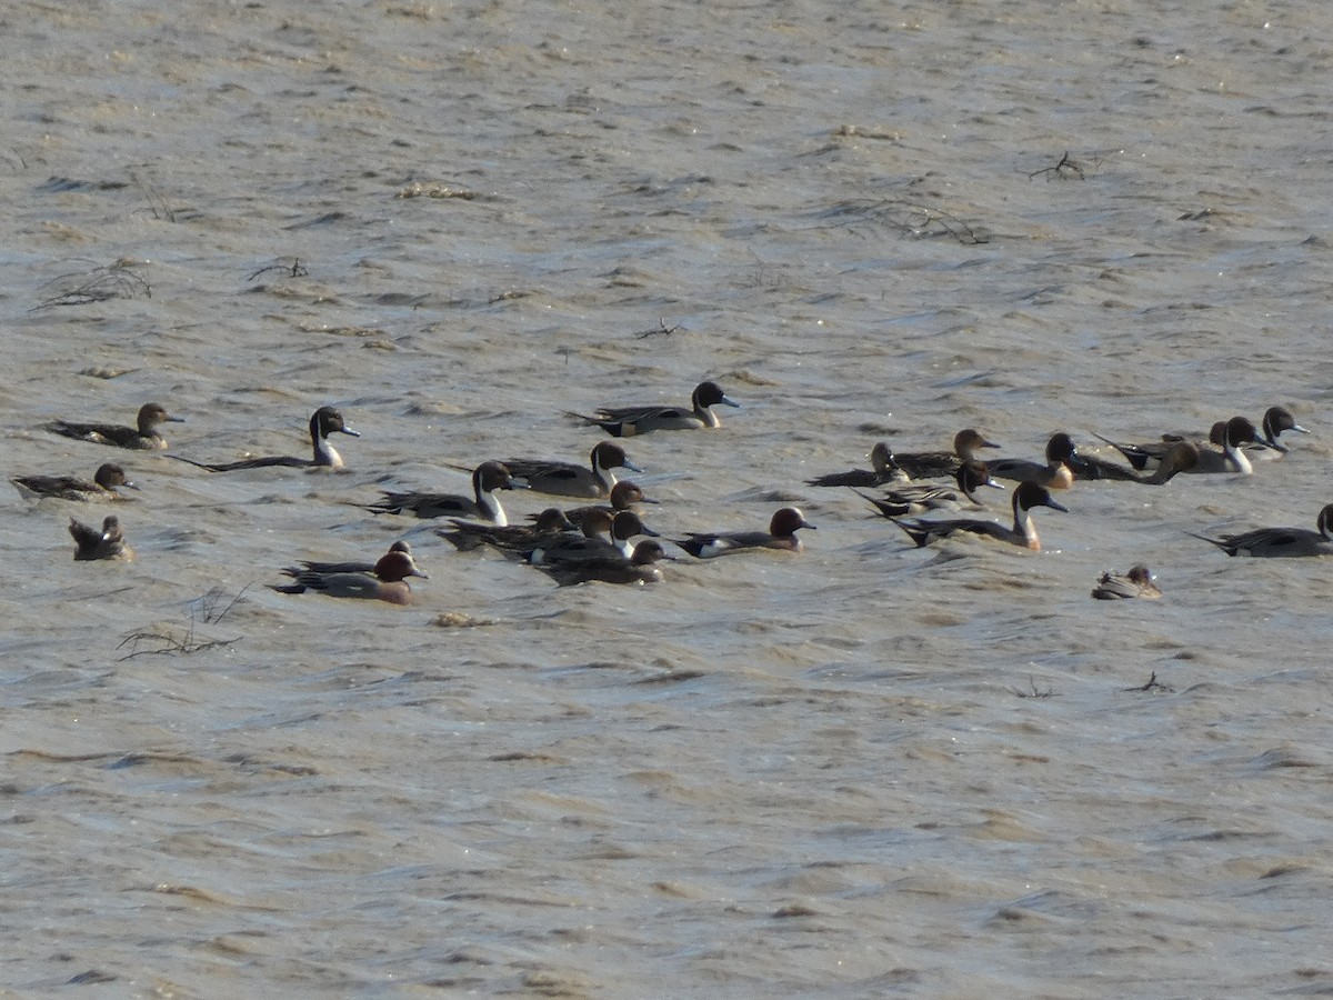
<path id="1" fill-rule="evenodd" d="M 605 407 L 592 416 L 573 413 L 580 421 L 596 425 L 613 437 L 632 437 L 653 431 L 705 429 L 720 425 L 712 412 L 714 405 L 738 405 L 728 399 L 713 381 L 701 383 L 689 407 Z M 139 411 L 137 427 L 115 427 L 95 423 L 55 421 L 47 429 L 65 437 L 120 448 L 161 449 L 167 441 L 157 428 L 176 421 L 161 405 L 149 403 Z M 1162 435 L 1145 444 L 1124 444 L 1101 439 L 1114 448 L 1125 463 L 1097 455 L 1082 455 L 1068 433 L 1054 435 L 1046 445 L 1045 461 L 1026 459 L 990 459 L 978 456 L 997 445 L 976 429 L 960 431 L 952 451 L 894 453 L 888 443 L 878 443 L 869 457 L 872 468 L 822 475 L 806 480 L 812 487 L 850 487 L 892 520 L 918 547 L 953 535 L 974 535 L 1040 549 L 1032 511 L 1045 507 L 1068 511 L 1057 503 L 1052 489 L 1068 489 L 1077 479 L 1113 479 L 1160 485 L 1182 472 L 1250 473 L 1260 453 L 1281 457 L 1286 451 L 1278 439 L 1285 431 L 1308 433 L 1282 407 L 1270 408 L 1262 421 L 1262 433 L 1242 416 L 1220 421 L 1208 439 L 1189 435 Z M 312 457 L 271 456 L 240 461 L 201 463 L 181 459 L 212 472 L 231 472 L 267 467 L 328 468 L 343 467 L 343 457 L 329 444 L 331 433 L 359 436 L 333 407 L 321 407 L 311 417 Z M 668 560 L 664 545 L 636 512 L 639 504 L 656 503 L 629 481 L 617 481 L 616 471 L 643 472 L 625 449 L 615 441 L 600 441 L 589 452 L 587 465 L 565 461 L 509 459 L 488 460 L 472 469 L 472 495 L 385 491 L 380 500 L 365 504 L 377 515 L 400 515 L 419 519 L 449 519 L 437 533 L 459 549 L 489 547 L 521 559 L 560 584 L 592 580 L 607 583 L 652 583 L 663 577 L 657 565 Z M 950 479 L 952 485 L 921 483 L 921 479 Z M 977 509 L 976 491 L 1000 487 L 997 480 L 1017 483 L 1012 493 L 1012 525 L 980 517 L 922 516 L 940 511 Z M 24 496 L 63 500 L 125 499 L 121 487 L 137 489 L 124 469 L 107 463 L 92 481 L 72 476 L 20 476 L 13 480 Z M 956 487 L 956 488 L 954 488 Z M 865 492 L 881 488 L 880 495 Z M 529 523 L 512 525 L 497 497 L 500 491 L 533 492 L 596 500 L 584 507 L 563 509 L 549 507 L 531 515 Z M 800 509 L 784 507 L 769 521 L 768 531 L 690 532 L 672 541 L 697 559 L 766 548 L 800 552 L 800 529 L 813 529 Z M 1333 504 L 1317 520 L 1317 531 L 1301 528 L 1260 528 L 1217 539 L 1198 536 L 1228 555 L 1248 556 L 1314 556 L 1333 553 Z M 115 516 L 96 529 L 71 519 L 69 532 L 76 543 L 75 559 L 124 559 L 132 552 L 125 544 Z M 637 544 L 633 540 L 645 536 Z M 307 561 L 283 571 L 292 583 L 273 584 L 283 593 L 307 591 L 340 597 L 377 599 L 395 604 L 411 601 L 409 577 L 427 575 L 417 567 L 411 547 L 396 541 L 375 563 Z M 1098 580 L 1093 596 L 1098 599 L 1157 597 L 1152 573 L 1144 565 L 1121 576 L 1106 573 Z"/>

